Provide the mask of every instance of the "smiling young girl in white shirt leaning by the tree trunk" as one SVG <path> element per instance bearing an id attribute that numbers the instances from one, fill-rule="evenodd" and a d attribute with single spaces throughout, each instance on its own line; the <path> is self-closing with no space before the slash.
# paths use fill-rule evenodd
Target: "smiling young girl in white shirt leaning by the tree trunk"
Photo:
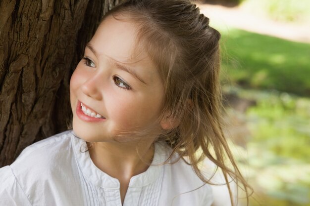
<path id="1" fill-rule="evenodd" d="M 0 205 L 235 205 L 229 181 L 248 185 L 220 124 L 219 39 L 188 0 L 110 10 L 71 78 L 73 130 L 0 169 Z M 212 192 L 205 157 L 228 202 Z"/>

